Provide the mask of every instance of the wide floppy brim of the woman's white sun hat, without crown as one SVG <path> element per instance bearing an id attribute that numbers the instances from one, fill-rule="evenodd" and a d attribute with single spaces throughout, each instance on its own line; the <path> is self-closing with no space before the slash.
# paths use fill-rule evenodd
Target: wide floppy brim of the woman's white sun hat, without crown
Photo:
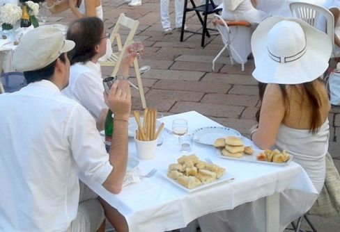
<path id="1" fill-rule="evenodd" d="M 302 27 L 307 51 L 304 55 L 290 63 L 278 63 L 268 54 L 268 32 L 278 22 L 293 21 Z M 255 69 L 252 75 L 262 83 L 300 84 L 314 81 L 328 67 L 332 53 L 332 43 L 328 36 L 300 19 L 274 16 L 265 19 L 258 25 L 252 35 L 252 52 Z"/>

